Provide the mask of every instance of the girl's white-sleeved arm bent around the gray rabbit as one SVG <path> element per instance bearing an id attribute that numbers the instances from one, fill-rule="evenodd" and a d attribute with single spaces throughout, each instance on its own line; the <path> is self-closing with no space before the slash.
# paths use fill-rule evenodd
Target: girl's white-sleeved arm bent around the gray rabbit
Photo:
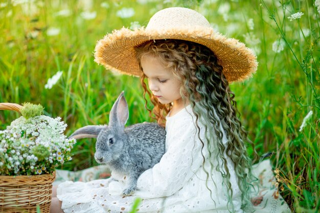
<path id="1" fill-rule="evenodd" d="M 170 196 L 183 187 L 201 167 L 202 145 L 192 117 L 181 123 L 178 129 L 169 130 L 174 133 L 168 132 L 167 139 L 170 145 L 160 162 L 139 177 L 136 196 L 143 198 Z M 203 148 L 204 153 L 207 153 L 207 147 Z"/>

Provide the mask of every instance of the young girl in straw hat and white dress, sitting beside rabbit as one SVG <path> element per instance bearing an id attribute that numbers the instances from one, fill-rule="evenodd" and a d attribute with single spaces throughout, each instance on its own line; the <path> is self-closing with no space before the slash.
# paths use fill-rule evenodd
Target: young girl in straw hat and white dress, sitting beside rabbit
<path id="1" fill-rule="evenodd" d="M 194 10 L 167 8 L 153 15 L 146 29 L 106 35 L 95 57 L 108 69 L 141 77 L 155 119 L 166 128 L 166 153 L 139 177 L 132 196 L 121 195 L 126 180 L 119 174 L 111 174 L 118 180 L 112 182 L 67 181 L 57 195 L 53 190 L 52 212 L 61 207 L 64 212 L 128 212 L 137 197 L 142 199 L 138 212 L 250 207 L 254 179 L 245 144 L 253 144 L 237 117 L 228 82 L 256 71 L 251 50 L 215 33 Z"/>

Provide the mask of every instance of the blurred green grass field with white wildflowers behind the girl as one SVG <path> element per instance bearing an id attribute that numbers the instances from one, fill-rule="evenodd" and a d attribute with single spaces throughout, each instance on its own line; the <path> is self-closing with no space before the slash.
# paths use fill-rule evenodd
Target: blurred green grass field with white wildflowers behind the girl
<path id="1" fill-rule="evenodd" d="M 97 40 L 113 29 L 146 26 L 157 10 L 172 6 L 197 10 L 218 32 L 255 51 L 257 73 L 231 86 L 240 118 L 259 155 L 272 152 L 273 168 L 280 170 L 283 181 L 280 193 L 292 211 L 317 212 L 319 0 L 2 1 L 0 102 L 40 103 L 46 115 L 62 117 L 70 135 L 85 125 L 107 123 L 113 102 L 124 90 L 127 124 L 151 121 L 139 79 L 105 70 L 94 62 L 93 51 Z M 58 72 L 60 79 L 50 85 L 48 79 Z M 18 116 L 1 111 L 0 129 Z M 73 160 L 63 169 L 96 165 L 94 152 L 95 140 L 79 140 Z"/>

